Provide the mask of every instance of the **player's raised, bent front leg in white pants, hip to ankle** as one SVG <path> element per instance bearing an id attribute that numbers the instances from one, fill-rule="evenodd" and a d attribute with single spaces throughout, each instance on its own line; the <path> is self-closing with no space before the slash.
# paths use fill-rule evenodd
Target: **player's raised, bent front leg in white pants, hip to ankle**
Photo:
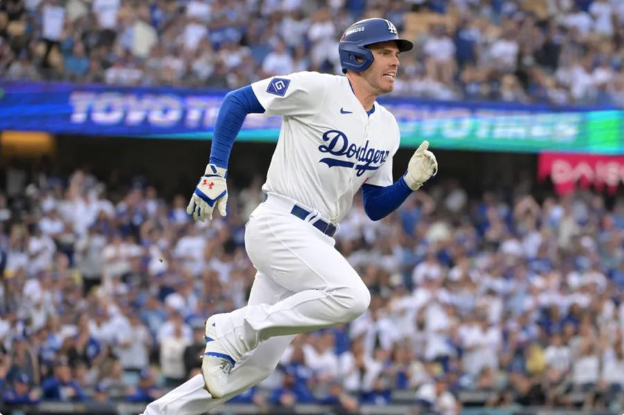
<path id="1" fill-rule="evenodd" d="M 370 303 L 368 288 L 332 238 L 293 215 L 259 209 L 245 232 L 250 259 L 295 294 L 214 317 L 218 346 L 235 361 L 271 337 L 352 321 Z"/>

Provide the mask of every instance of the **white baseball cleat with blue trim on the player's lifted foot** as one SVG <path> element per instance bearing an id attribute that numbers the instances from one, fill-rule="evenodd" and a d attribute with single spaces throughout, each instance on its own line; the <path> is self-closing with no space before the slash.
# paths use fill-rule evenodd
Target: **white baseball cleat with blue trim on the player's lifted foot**
<path id="1" fill-rule="evenodd" d="M 202 359 L 202 376 L 205 388 L 213 398 L 223 398 L 229 372 L 234 367 L 234 359 L 219 344 L 216 338 L 214 316 L 206 321 L 206 350 Z"/>

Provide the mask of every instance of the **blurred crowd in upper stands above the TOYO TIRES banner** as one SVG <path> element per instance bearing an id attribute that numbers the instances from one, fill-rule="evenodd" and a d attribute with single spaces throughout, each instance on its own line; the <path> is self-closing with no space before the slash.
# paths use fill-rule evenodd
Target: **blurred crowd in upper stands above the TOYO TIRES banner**
<path id="1" fill-rule="evenodd" d="M 235 89 L 340 73 L 363 17 L 415 42 L 395 95 L 624 106 L 621 0 L 3 0 L 0 76 Z"/>

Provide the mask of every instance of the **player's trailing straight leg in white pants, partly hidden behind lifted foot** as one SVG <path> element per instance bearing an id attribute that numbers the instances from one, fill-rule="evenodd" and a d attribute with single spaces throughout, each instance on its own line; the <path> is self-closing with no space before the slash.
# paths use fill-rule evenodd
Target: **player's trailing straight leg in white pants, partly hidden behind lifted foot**
<path id="1" fill-rule="evenodd" d="M 258 272 L 250 292 L 249 305 L 275 303 L 292 292 L 274 283 L 266 275 Z M 241 391 L 257 385 L 277 367 L 279 358 L 294 336 L 273 337 L 263 342 L 236 364 L 228 379 L 224 398 L 214 399 L 204 389 L 202 375 L 194 376 L 168 394 L 150 403 L 144 415 L 198 415 L 218 407 Z"/>

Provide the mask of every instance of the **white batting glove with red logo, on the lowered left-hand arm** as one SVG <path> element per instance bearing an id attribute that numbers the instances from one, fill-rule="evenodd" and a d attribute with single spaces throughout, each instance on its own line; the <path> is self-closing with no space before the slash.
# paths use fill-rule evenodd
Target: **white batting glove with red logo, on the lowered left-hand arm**
<path id="1" fill-rule="evenodd" d="M 219 214 L 225 216 L 226 177 L 227 170 L 225 168 L 217 167 L 214 164 L 206 166 L 206 173 L 200 178 L 200 182 L 191 196 L 191 202 L 187 206 L 187 213 L 193 215 L 194 220 L 201 220 L 202 222 L 206 219 L 212 220 L 214 204 L 217 205 Z"/>

